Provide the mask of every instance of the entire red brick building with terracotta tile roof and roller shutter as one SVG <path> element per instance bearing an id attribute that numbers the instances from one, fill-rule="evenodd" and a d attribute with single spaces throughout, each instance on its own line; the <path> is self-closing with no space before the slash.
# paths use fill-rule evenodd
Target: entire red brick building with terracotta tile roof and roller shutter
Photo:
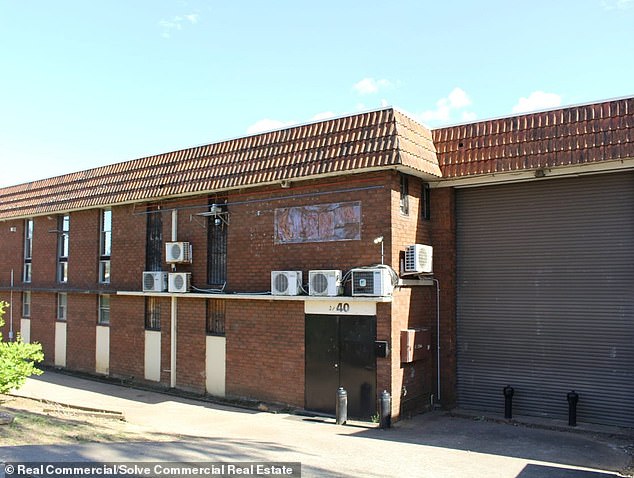
<path id="1" fill-rule="evenodd" d="M 574 389 L 580 420 L 632 426 L 633 110 L 429 131 L 386 108 L 1 189 L 5 336 L 326 413 L 343 385 L 365 419 L 383 390 L 398 418 L 510 384 L 517 413 Z"/>

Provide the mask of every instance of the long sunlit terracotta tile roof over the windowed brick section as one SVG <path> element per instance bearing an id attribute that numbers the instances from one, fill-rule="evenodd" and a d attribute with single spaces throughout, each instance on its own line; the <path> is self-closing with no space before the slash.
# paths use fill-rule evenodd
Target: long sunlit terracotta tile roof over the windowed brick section
<path id="1" fill-rule="evenodd" d="M 0 189 L 0 219 L 405 165 L 440 176 L 431 133 L 391 108 Z"/>

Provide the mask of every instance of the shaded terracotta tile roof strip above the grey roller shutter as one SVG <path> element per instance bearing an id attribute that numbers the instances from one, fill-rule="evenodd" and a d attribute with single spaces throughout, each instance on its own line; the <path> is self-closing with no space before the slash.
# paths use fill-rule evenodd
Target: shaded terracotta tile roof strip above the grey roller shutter
<path id="1" fill-rule="evenodd" d="M 634 158 L 634 98 L 432 131 L 443 178 Z"/>

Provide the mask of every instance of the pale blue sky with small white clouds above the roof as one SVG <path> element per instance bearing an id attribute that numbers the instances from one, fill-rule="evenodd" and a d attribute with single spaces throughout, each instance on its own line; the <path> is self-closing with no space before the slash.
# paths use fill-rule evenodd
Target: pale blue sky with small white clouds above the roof
<path id="1" fill-rule="evenodd" d="M 395 106 L 634 94 L 634 0 L 0 0 L 0 187 Z"/>

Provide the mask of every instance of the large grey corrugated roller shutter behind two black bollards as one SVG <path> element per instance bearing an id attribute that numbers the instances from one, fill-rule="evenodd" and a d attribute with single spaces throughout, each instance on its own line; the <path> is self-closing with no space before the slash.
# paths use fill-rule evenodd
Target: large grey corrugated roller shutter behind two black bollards
<path id="1" fill-rule="evenodd" d="M 457 191 L 458 403 L 634 426 L 634 176 Z"/>

